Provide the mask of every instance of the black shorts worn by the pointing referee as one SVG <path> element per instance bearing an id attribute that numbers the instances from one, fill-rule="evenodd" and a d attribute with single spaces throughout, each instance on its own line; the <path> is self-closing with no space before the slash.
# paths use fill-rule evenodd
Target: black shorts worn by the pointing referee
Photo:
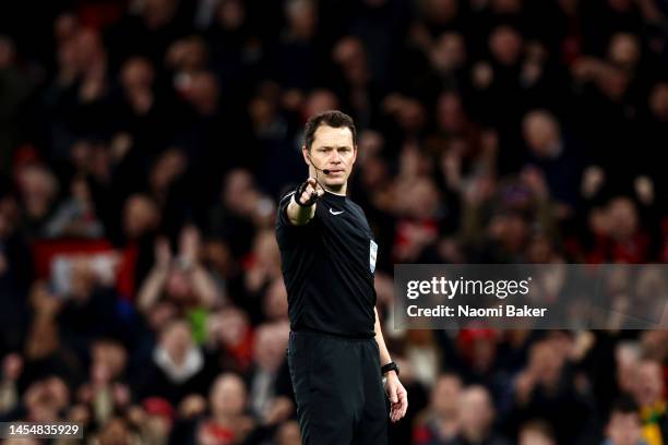
<path id="1" fill-rule="evenodd" d="M 375 339 L 290 333 L 288 365 L 302 444 L 387 444 Z"/>

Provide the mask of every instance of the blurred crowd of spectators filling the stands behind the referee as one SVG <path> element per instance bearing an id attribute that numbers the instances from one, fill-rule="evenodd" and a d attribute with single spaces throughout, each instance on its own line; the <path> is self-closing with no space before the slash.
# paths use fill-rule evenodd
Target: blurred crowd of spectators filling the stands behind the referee
<path id="1" fill-rule="evenodd" d="M 2 2 L 0 420 L 299 444 L 276 202 L 306 179 L 306 119 L 342 109 L 409 394 L 393 443 L 668 444 L 666 332 L 390 316 L 395 263 L 668 261 L 667 17 L 665 0 Z"/>

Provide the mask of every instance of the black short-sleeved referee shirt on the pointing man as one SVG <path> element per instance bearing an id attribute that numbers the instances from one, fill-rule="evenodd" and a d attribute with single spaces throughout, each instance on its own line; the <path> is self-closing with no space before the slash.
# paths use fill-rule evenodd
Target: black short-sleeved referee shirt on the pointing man
<path id="1" fill-rule="evenodd" d="M 313 218 L 294 226 L 287 216 L 293 194 L 281 200 L 276 218 L 290 328 L 373 337 L 378 245 L 365 213 L 347 196 L 325 192 Z"/>

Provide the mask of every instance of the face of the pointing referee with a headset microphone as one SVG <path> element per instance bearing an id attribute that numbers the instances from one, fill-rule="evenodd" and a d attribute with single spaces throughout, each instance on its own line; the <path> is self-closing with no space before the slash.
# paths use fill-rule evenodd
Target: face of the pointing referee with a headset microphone
<path id="1" fill-rule="evenodd" d="M 353 165 L 357 158 L 357 147 L 353 142 L 353 133 L 346 127 L 333 128 L 320 125 L 315 130 L 310 152 L 302 149 L 303 159 L 309 165 L 311 177 L 315 178 L 315 169 L 319 168 L 318 181 L 327 189 L 338 189 L 347 181 Z M 309 156 L 311 161 L 309 161 Z M 312 164 L 312 165 L 311 165 Z M 330 170 L 330 175 L 321 170 Z"/>

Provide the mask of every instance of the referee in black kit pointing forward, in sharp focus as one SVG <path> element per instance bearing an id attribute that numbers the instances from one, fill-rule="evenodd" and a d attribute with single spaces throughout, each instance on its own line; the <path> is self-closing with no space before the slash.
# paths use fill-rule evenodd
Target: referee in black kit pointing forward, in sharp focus
<path id="1" fill-rule="evenodd" d="M 378 245 L 362 209 L 346 196 L 355 133 L 341 111 L 309 119 L 302 154 L 310 178 L 278 205 L 288 365 L 308 445 L 387 444 L 383 376 L 390 419 L 408 407 L 375 310 Z"/>

